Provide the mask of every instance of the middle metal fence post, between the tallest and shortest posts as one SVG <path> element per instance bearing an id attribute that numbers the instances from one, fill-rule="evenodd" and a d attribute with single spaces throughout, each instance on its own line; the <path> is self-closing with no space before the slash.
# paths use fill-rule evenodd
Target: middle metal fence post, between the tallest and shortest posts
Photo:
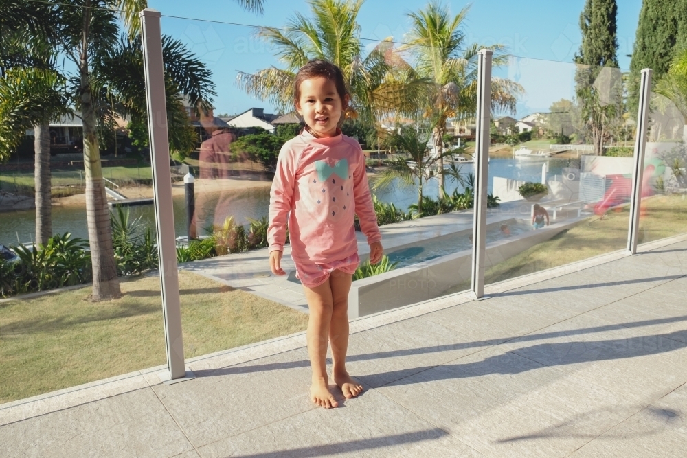
<path id="1" fill-rule="evenodd" d="M 489 127 L 491 124 L 491 57 L 482 49 L 477 64 L 477 135 L 475 142 L 475 209 L 473 224 L 472 291 L 484 297 L 486 257 L 486 196 L 489 176 Z"/>

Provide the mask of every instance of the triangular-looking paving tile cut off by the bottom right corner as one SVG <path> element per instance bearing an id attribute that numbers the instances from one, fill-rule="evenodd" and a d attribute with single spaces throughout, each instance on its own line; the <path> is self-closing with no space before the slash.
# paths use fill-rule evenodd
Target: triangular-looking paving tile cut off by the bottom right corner
<path id="1" fill-rule="evenodd" d="M 683 385 L 570 455 L 573 458 L 682 458 L 687 450 Z"/>

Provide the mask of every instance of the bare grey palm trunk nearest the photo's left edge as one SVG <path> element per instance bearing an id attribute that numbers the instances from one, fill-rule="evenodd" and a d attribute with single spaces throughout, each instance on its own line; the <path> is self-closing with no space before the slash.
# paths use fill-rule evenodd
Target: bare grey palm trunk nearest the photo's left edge
<path id="1" fill-rule="evenodd" d="M 52 237 L 52 201 L 50 196 L 50 126 L 34 126 L 34 187 L 36 188 L 36 242 L 47 244 Z"/>

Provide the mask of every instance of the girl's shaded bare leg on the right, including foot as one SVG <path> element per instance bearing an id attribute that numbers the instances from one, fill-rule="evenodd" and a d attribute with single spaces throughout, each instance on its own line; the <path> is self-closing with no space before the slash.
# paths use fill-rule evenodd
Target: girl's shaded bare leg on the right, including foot
<path id="1" fill-rule="evenodd" d="M 346 371 L 346 351 L 348 350 L 348 292 L 352 275 L 333 271 L 329 277 L 332 291 L 333 310 L 329 327 L 329 341 L 332 343 L 334 363 L 334 382 L 341 389 L 343 396 L 353 398 L 363 391 L 363 386 L 353 380 Z"/>

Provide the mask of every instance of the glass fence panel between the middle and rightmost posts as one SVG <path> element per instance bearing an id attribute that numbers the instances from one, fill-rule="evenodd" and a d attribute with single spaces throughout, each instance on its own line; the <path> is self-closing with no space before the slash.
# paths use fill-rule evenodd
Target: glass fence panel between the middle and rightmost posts
<path id="1" fill-rule="evenodd" d="M 510 58 L 494 74 L 522 93 L 493 113 L 489 190 L 500 205 L 488 216 L 486 283 L 623 249 L 634 123 L 620 69 Z M 493 84 L 498 105 L 503 84 Z"/>

